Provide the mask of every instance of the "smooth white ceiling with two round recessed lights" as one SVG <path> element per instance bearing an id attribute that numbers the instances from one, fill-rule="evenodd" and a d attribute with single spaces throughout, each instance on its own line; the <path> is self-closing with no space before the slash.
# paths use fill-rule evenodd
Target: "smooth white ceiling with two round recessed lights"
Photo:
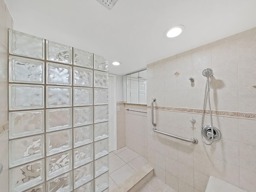
<path id="1" fill-rule="evenodd" d="M 100 54 L 118 75 L 256 26 L 256 0 L 119 0 L 112 10 L 96 0 L 6 3 L 14 29 Z M 164 38 L 179 24 L 181 36 Z"/>

